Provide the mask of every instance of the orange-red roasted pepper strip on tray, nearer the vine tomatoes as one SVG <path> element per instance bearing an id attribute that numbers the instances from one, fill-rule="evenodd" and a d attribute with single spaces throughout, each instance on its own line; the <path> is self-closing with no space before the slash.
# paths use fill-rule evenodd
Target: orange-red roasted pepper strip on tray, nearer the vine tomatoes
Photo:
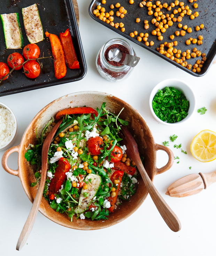
<path id="1" fill-rule="evenodd" d="M 67 67 L 65 64 L 64 51 L 59 40 L 54 34 L 49 34 L 45 32 L 46 36 L 49 37 L 52 47 L 52 53 L 54 58 L 54 69 L 55 69 L 55 77 L 60 79 L 65 76 L 67 72 Z"/>

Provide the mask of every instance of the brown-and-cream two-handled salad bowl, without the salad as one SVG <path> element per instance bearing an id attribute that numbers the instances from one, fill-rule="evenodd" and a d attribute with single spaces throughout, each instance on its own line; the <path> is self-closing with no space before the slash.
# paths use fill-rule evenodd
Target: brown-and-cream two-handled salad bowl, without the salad
<path id="1" fill-rule="evenodd" d="M 34 176 L 34 169 L 29 162 L 26 161 L 24 154 L 26 148 L 29 144 L 36 144 L 36 128 L 38 134 L 41 133 L 46 123 L 54 117 L 57 112 L 62 109 L 69 108 L 71 106 L 89 106 L 94 109 L 100 108 L 101 104 L 106 102 L 106 108 L 118 114 L 119 111 L 124 107 L 124 111 L 121 113 L 120 118 L 129 121 L 128 129 L 134 136 L 139 152 L 145 157 L 144 167 L 151 178 L 154 180 L 155 175 L 163 173 L 169 170 L 173 164 L 173 153 L 172 151 L 163 146 L 156 144 L 144 118 L 139 114 L 139 112 L 130 106 L 125 101 L 116 98 L 113 95 L 103 93 L 103 92 L 77 92 L 65 95 L 57 100 L 54 100 L 46 107 L 44 107 L 31 121 L 25 133 L 22 137 L 21 143 L 18 146 L 8 149 L 2 157 L 2 167 L 8 173 L 18 176 L 21 180 L 23 189 L 31 202 L 37 193 L 37 186 L 31 187 L 32 182 L 36 182 Z M 158 169 L 156 167 L 156 152 L 157 150 L 164 150 L 169 156 L 168 163 L 162 168 Z M 12 170 L 7 165 L 7 159 L 9 155 L 13 152 L 18 152 L 18 169 Z M 147 189 L 141 178 L 138 176 L 137 191 L 131 197 L 130 201 L 122 202 L 122 205 L 117 207 L 114 213 L 110 213 L 108 220 L 92 221 L 91 219 L 76 219 L 70 222 L 70 219 L 66 214 L 60 214 L 56 212 L 49 206 L 48 201 L 43 197 L 41 200 L 39 211 L 46 216 L 48 219 L 68 228 L 80 229 L 80 230 L 94 230 L 113 226 L 124 219 L 128 218 L 132 213 L 134 213 L 144 202 L 147 197 Z"/>

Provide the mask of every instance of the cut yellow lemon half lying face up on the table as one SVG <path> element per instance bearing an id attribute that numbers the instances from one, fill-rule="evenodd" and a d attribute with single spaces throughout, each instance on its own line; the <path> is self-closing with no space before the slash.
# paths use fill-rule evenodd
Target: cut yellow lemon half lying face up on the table
<path id="1" fill-rule="evenodd" d="M 216 133 L 203 130 L 191 143 L 191 153 L 200 162 L 210 162 L 216 159 Z"/>

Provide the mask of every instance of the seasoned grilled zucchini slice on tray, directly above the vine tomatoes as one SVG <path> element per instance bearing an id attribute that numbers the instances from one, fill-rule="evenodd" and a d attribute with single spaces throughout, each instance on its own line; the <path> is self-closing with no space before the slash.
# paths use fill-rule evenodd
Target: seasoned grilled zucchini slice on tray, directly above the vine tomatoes
<path id="1" fill-rule="evenodd" d="M 41 24 L 38 6 L 35 3 L 28 7 L 22 8 L 23 22 L 25 33 L 31 44 L 44 40 L 44 30 Z"/>

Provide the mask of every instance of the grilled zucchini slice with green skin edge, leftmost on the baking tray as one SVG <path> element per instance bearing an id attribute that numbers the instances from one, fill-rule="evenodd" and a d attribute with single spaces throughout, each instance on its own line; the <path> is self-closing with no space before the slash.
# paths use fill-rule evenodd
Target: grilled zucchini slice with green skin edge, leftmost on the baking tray
<path id="1" fill-rule="evenodd" d="M 19 14 L 1 14 L 0 18 L 5 34 L 6 49 L 22 49 L 24 44 Z"/>

